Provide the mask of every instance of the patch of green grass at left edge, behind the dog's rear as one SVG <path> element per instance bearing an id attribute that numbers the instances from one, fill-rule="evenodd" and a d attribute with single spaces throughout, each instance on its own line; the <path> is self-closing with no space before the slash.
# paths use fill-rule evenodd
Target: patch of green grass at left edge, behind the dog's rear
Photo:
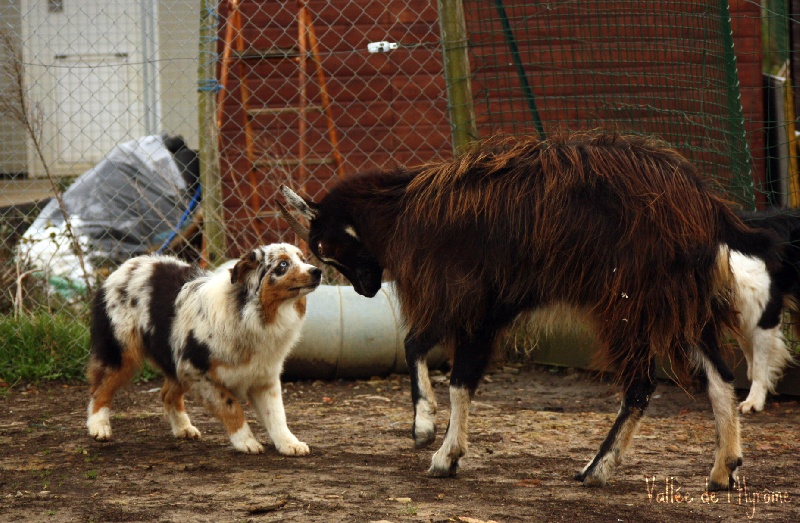
<path id="1" fill-rule="evenodd" d="M 66 313 L 0 318 L 0 381 L 84 381 L 89 326 Z"/>

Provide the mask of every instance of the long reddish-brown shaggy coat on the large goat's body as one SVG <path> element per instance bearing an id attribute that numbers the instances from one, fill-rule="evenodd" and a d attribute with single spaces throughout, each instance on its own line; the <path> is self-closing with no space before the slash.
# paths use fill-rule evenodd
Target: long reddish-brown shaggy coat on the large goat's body
<path id="1" fill-rule="evenodd" d="M 706 323 L 735 324 L 711 298 L 729 297 L 725 257 L 717 263 L 720 223 L 738 220 L 660 142 L 605 134 L 495 141 L 412 174 L 385 195 L 400 200 L 394 227 L 361 236 L 380 238 L 382 249 L 367 248 L 420 331 L 434 322 L 475 328 L 498 302 L 589 305 L 602 319 L 594 325 L 601 340 L 614 340 L 597 360 L 624 379 L 647 363 L 643 338 L 686 377 L 688 349 Z M 356 185 L 369 192 L 385 183 L 354 177 L 334 192 Z"/>

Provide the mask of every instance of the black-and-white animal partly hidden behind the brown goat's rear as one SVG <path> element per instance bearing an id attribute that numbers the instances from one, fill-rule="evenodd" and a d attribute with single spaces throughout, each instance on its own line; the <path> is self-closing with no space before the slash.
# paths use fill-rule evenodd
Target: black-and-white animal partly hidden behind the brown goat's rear
<path id="1" fill-rule="evenodd" d="M 764 409 L 767 393 L 775 392 L 784 369 L 793 361 L 784 339 L 784 310 L 795 337 L 800 338 L 800 212 L 775 209 L 740 212 L 739 216 L 751 227 L 771 231 L 780 253 L 779 263 L 768 265 L 763 257 L 731 251 L 741 320 L 737 338 L 751 380 L 739 410 L 749 413 Z"/>

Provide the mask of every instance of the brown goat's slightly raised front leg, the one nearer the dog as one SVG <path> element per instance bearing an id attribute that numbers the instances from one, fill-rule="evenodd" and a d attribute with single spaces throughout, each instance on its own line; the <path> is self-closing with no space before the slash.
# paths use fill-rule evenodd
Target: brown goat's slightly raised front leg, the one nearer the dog
<path id="1" fill-rule="evenodd" d="M 406 364 L 411 377 L 411 401 L 414 403 L 414 426 L 411 434 L 417 448 L 433 443 L 436 437 L 436 395 L 428 376 L 426 355 L 439 342 L 430 333 L 417 334 L 413 329 L 405 339 Z"/>

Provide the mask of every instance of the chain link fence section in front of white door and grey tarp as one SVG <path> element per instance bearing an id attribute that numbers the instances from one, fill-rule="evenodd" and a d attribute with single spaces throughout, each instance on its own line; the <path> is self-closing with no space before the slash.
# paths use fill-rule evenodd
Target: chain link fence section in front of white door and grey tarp
<path id="1" fill-rule="evenodd" d="M 156 250 L 192 201 L 198 7 L 0 10 L 0 311 L 79 311 L 108 269 Z"/>

